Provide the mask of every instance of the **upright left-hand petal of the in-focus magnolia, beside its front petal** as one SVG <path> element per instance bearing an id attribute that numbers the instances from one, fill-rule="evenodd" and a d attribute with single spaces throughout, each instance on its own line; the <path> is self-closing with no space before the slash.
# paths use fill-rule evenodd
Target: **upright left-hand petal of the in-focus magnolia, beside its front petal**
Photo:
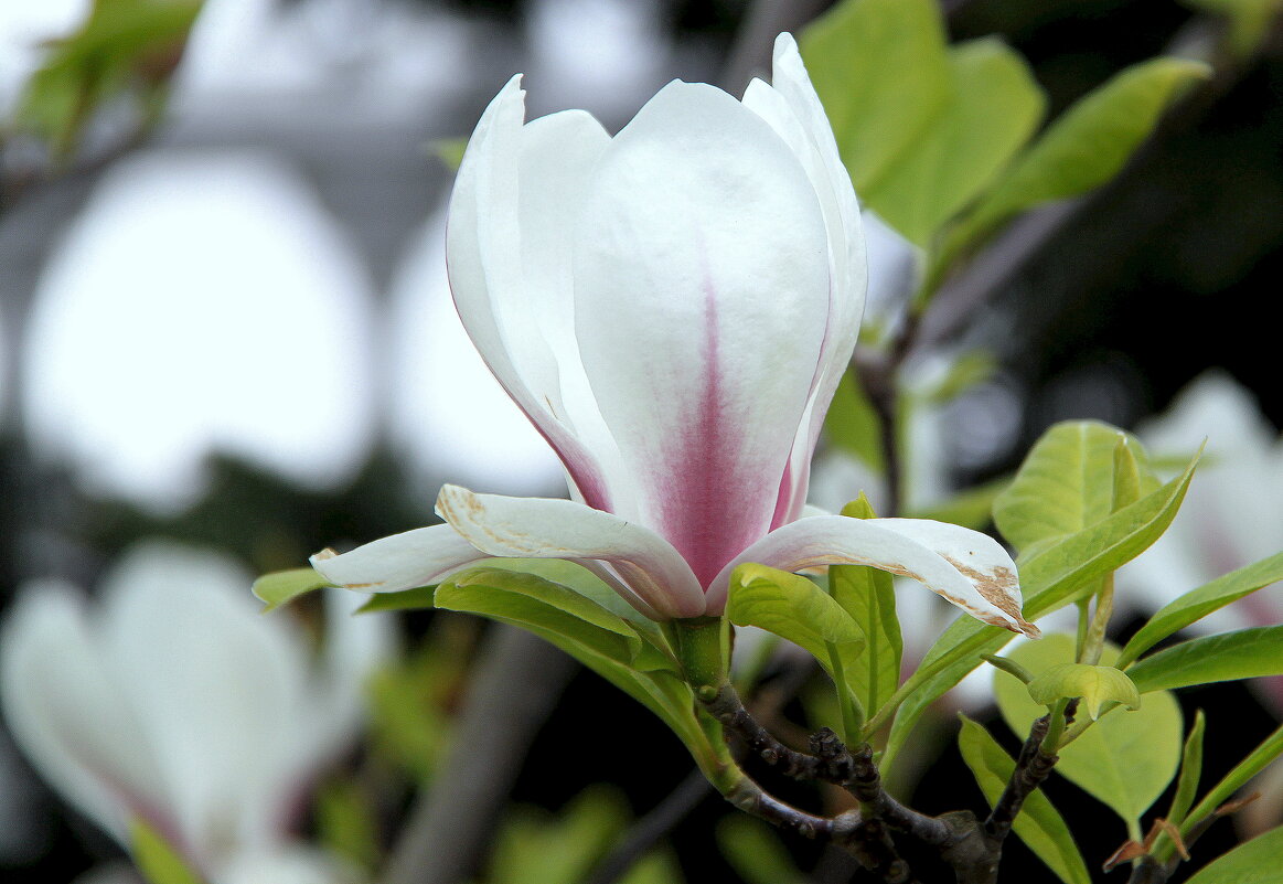
<path id="1" fill-rule="evenodd" d="M 584 396 L 574 346 L 570 226 L 609 137 L 582 112 L 523 126 L 523 96 L 513 77 L 486 108 L 459 166 L 445 237 L 450 290 L 490 371 L 585 499 L 607 507 L 600 463 L 580 438 L 612 448 Z"/>

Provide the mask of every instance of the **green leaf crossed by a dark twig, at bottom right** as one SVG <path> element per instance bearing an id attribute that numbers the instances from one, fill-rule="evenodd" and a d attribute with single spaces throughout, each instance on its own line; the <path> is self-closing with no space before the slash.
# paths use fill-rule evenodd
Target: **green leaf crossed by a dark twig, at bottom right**
<path id="1" fill-rule="evenodd" d="M 1016 762 L 998 745 L 989 731 L 965 715 L 960 713 L 958 717 L 962 720 L 962 730 L 958 733 L 962 760 L 971 769 L 989 807 L 993 807 L 1011 779 Z M 1025 799 L 1011 828 L 1034 856 L 1065 884 L 1091 884 L 1092 876 L 1087 871 L 1082 853 L 1078 852 L 1074 835 L 1042 790 L 1033 792 Z"/>

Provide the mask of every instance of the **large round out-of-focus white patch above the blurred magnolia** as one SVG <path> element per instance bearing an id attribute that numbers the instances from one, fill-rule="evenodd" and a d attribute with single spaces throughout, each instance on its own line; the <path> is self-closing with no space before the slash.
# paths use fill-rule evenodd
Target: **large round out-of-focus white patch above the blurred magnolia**
<path id="1" fill-rule="evenodd" d="M 212 449 L 313 488 L 372 427 L 370 281 L 308 182 L 258 151 L 114 166 L 53 250 L 26 330 L 35 448 L 176 509 Z"/>

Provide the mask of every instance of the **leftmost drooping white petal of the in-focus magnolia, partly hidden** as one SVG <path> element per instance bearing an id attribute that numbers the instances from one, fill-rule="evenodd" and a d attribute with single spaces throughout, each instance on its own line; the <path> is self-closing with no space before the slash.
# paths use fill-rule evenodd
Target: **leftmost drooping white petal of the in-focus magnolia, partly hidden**
<path id="1" fill-rule="evenodd" d="M 432 525 L 380 538 L 341 556 L 322 549 L 310 561 L 322 577 L 344 589 L 399 593 L 439 582 L 485 558 L 449 525 Z"/>

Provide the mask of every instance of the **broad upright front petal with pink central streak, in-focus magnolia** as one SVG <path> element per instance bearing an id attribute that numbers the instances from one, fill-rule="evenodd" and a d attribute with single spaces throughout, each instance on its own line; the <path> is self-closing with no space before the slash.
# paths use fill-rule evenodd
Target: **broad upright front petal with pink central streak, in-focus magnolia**
<path id="1" fill-rule="evenodd" d="M 770 527 L 829 317 L 826 242 L 797 157 L 704 85 L 661 90 L 585 198 L 584 368 L 639 520 L 702 582 Z"/>

